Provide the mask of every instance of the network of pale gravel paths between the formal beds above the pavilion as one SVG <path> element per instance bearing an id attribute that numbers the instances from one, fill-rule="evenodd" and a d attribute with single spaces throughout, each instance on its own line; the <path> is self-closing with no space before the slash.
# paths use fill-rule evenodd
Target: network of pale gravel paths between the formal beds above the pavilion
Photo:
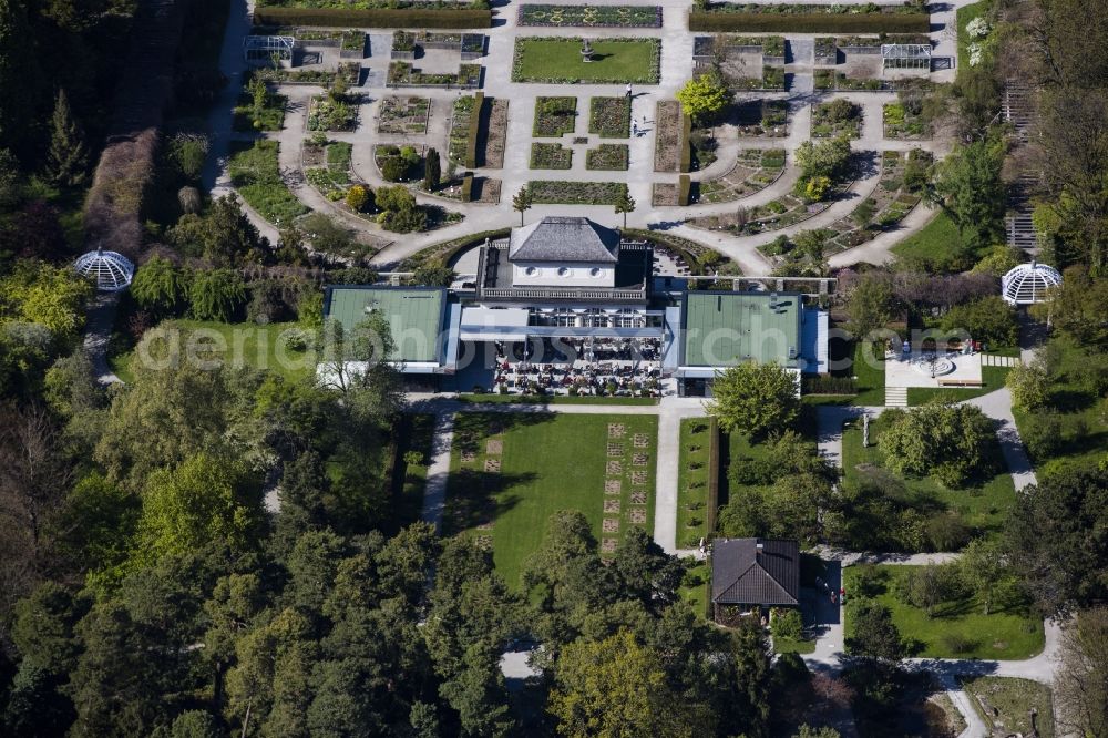
<path id="1" fill-rule="evenodd" d="M 601 0 L 596 4 L 619 4 L 618 0 Z M 788 228 L 761 234 L 758 236 L 736 237 L 722 232 L 706 232 L 685 225 L 688 217 L 699 215 L 711 215 L 720 213 L 731 213 L 737 207 L 751 207 L 766 204 L 769 201 L 789 192 L 796 182 L 796 171 L 792 164 L 792 154 L 796 147 L 808 139 L 810 129 L 810 104 L 832 96 L 831 93 L 812 93 L 810 90 L 810 75 L 804 79 L 802 73 L 797 74 L 797 91 L 788 93 L 743 93 L 743 96 L 755 98 L 780 98 L 790 102 L 790 132 L 786 139 L 739 139 L 733 127 L 724 126 L 719 132 L 719 161 L 710 165 L 702 173 L 695 173 L 697 180 L 708 180 L 721 175 L 730 168 L 735 155 L 740 147 L 765 148 L 783 147 L 789 154 L 789 166 L 783 175 L 769 187 L 761 189 L 748 197 L 717 204 L 699 204 L 689 207 L 654 207 L 650 205 L 653 183 L 673 182 L 676 183 L 676 173 L 655 173 L 654 166 L 654 144 L 655 131 L 654 113 L 655 103 L 658 100 L 673 99 L 675 92 L 693 71 L 693 38 L 694 34 L 687 30 L 686 13 L 690 7 L 688 0 L 660 0 L 657 2 L 663 7 L 663 27 L 660 29 L 589 29 L 583 31 L 577 28 L 516 28 L 516 3 L 509 2 L 497 9 L 499 25 L 489 29 L 488 54 L 481 60 L 484 66 L 483 89 L 486 94 L 500 96 L 510 101 L 509 123 L 507 123 L 507 147 L 505 151 L 504 168 L 501 170 L 475 170 L 478 175 L 497 178 L 502 181 L 501 203 L 499 205 L 484 205 L 471 203 L 458 203 L 454 201 L 417 194 L 417 199 L 423 204 L 441 205 L 450 211 L 462 213 L 465 218 L 459 224 L 450 225 L 433 232 L 422 234 L 388 234 L 381 232 L 376 224 L 368 223 L 362 218 L 343 213 L 332 203 L 321 197 L 310 185 L 304 182 L 300 172 L 300 145 L 305 137 L 304 116 L 307 99 L 311 94 L 320 92 L 315 86 L 293 86 L 285 85 L 281 93 L 290 99 L 290 110 L 286 117 L 283 131 L 276 134 L 265 134 L 267 137 L 275 137 L 281 143 L 280 165 L 286 174 L 286 181 L 294 194 L 312 209 L 317 209 L 336 217 L 342 224 L 365 234 L 363 240 L 372 239 L 376 243 L 391 242 L 384 246 L 372 258 L 372 263 L 380 267 L 394 266 L 400 260 L 432 246 L 434 244 L 465 236 L 481 230 L 504 228 L 519 223 L 519 214 L 511 209 L 512 196 L 533 178 L 552 178 L 565 181 L 612 181 L 626 182 L 632 196 L 638 203 L 638 208 L 629 214 L 628 226 L 637 228 L 649 228 L 657 230 L 668 230 L 683 237 L 704 243 L 717 248 L 733 262 L 739 264 L 747 274 L 765 274 L 770 269 L 769 263 L 757 252 L 756 247 L 763 244 L 777 235 L 793 235 L 799 230 L 825 227 L 850 213 L 859 202 L 859 197 L 866 196 L 876 185 L 876 173 L 869 173 L 854 183 L 848 197 L 834 203 L 829 209 L 820 213 L 808 221 L 796 224 Z M 953 18 L 955 7 L 966 4 L 966 0 L 956 0 L 950 6 L 941 6 L 932 17 L 932 25 L 935 30 L 932 35 L 936 41 L 936 54 L 953 53 L 953 34 L 944 30 Z M 224 45 L 220 55 L 220 70 L 228 79 L 228 84 L 223 91 L 219 103 L 213 109 L 209 119 L 209 130 L 212 132 L 213 151 L 208 166 L 204 173 L 204 184 L 214 194 L 222 195 L 230 192 L 232 186 L 226 172 L 227 146 L 236 134 L 232 133 L 232 107 L 242 88 L 243 72 L 246 68 L 242 59 L 242 38 L 249 29 L 249 12 L 253 0 L 232 0 L 232 12 L 227 24 Z M 575 84 L 575 85 L 547 85 L 533 83 L 515 83 L 511 81 L 512 57 L 514 50 L 514 39 L 517 35 L 579 35 L 583 32 L 591 37 L 660 37 L 663 39 L 661 76 L 657 85 L 638 85 L 635 88 L 633 101 L 633 116 L 640 123 L 643 134 L 638 137 L 626 140 L 630 147 L 630 167 L 627 172 L 595 172 L 584 167 L 584 147 L 575 151 L 574 163 L 571 170 L 566 171 L 533 171 L 527 167 L 530 158 L 531 125 L 534 111 L 535 98 L 540 95 L 572 94 L 578 99 L 578 123 L 577 134 L 581 135 L 587 129 L 587 99 L 594 95 L 619 95 L 624 93 L 624 85 L 612 84 Z M 790 40 L 809 42 L 813 34 L 788 34 Z M 376 166 L 372 164 L 372 146 L 376 143 L 392 142 L 388 136 L 380 136 L 376 132 L 376 112 L 379 101 L 387 94 L 396 91 L 387 90 L 382 86 L 384 70 L 388 66 L 388 31 L 375 30 L 372 32 L 372 55 L 363 61 L 363 68 L 369 70 L 369 82 L 361 91 L 366 94 L 367 101 L 362 105 L 361 121 L 359 130 L 355 133 L 329 133 L 328 137 L 337 141 L 349 141 L 353 144 L 352 167 L 358 177 L 371 185 L 386 184 L 381 181 Z M 790 68 L 791 69 L 791 68 Z M 938 72 L 935 78 L 950 76 L 951 72 Z M 808 88 L 808 90 L 804 90 Z M 456 90 L 407 90 L 402 93 L 414 93 L 430 98 L 435 113 L 432 115 L 432 123 L 427 136 L 412 136 L 411 143 L 425 143 L 440 151 L 445 150 L 445 117 L 449 115 L 450 106 L 460 94 Z M 902 142 L 884 140 L 881 131 L 881 106 L 883 103 L 894 99 L 892 93 L 834 93 L 833 96 L 850 99 L 862 105 L 864 110 L 864 125 L 861 137 L 853 142 L 855 151 L 880 153 L 883 150 L 903 151 L 911 147 L 922 147 L 932 151 L 936 156 L 944 153 L 945 144 L 942 142 Z M 645 124 L 642 124 L 646 121 Z M 244 140 L 252 136 L 244 135 Z M 397 141 L 402 143 L 403 141 Z M 249 207 L 247 215 L 258 227 L 264 236 L 273 242 L 278 238 L 278 229 L 273 224 L 267 223 Z M 526 218 L 534 218 L 553 214 L 586 215 L 602 223 L 615 225 L 620 222 L 608 206 L 593 205 L 542 205 L 534 206 Z M 832 266 L 845 266 L 859 260 L 875 264 L 888 262 L 891 256 L 890 247 L 904 236 L 922 227 L 927 221 L 929 214 L 925 208 L 917 207 L 909 214 L 896 230 L 883 233 L 878 238 L 858 246 L 855 248 L 835 254 L 831 257 Z"/>

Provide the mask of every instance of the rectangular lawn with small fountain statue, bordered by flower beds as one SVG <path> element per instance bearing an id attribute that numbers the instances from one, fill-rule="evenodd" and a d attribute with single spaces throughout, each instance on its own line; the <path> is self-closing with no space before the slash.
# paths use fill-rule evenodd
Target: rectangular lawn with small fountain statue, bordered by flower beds
<path id="1" fill-rule="evenodd" d="M 581 60 L 579 39 L 516 39 L 513 82 L 657 84 L 660 39 L 597 39 L 592 62 Z"/>

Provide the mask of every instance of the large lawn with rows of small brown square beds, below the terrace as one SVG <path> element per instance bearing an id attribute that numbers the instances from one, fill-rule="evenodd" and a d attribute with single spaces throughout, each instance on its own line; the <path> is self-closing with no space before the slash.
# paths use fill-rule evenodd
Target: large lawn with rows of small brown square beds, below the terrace
<path id="1" fill-rule="evenodd" d="M 635 445 L 636 435 L 645 447 Z M 654 531 L 657 438 L 654 416 L 459 413 L 445 531 L 491 545 L 496 568 L 513 587 L 560 510 L 584 513 L 602 553 L 609 553 L 604 542 L 618 543 L 630 525 Z M 606 489 L 607 480 L 617 481 L 618 490 Z M 604 520 L 618 530 L 605 532 Z"/>

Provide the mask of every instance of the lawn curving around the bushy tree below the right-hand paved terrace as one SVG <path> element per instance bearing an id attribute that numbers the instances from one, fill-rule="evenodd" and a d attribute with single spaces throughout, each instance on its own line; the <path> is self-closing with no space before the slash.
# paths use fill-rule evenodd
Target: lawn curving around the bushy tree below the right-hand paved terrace
<path id="1" fill-rule="evenodd" d="M 884 467 L 884 457 L 878 449 L 878 439 L 884 421 L 881 418 L 870 423 L 870 445 L 862 448 L 862 426 L 851 423 L 842 434 L 842 467 L 848 485 L 856 486 L 860 480 L 859 467 L 871 464 Z M 999 471 L 978 486 L 964 490 L 944 488 L 931 476 L 903 479 L 909 504 L 922 513 L 947 510 L 954 512 L 971 532 L 977 535 L 997 535 L 1016 501 L 1016 489 L 1012 475 L 1001 457 L 999 442 L 992 440 L 988 453 Z M 892 474 L 892 472 L 889 472 Z M 901 479 L 901 478 L 896 478 Z"/>

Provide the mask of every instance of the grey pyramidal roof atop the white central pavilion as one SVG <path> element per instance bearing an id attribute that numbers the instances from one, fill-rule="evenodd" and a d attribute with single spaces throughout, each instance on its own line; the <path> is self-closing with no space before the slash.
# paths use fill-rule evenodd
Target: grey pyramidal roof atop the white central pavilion
<path id="1" fill-rule="evenodd" d="M 522 228 L 512 228 L 507 258 L 513 262 L 619 260 L 619 234 L 588 218 L 545 217 Z"/>

